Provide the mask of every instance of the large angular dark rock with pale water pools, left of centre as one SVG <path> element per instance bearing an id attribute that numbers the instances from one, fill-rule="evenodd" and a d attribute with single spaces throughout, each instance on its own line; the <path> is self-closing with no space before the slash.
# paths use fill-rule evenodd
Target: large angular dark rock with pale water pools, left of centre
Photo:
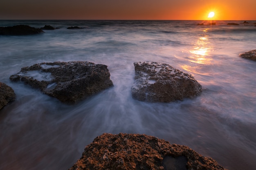
<path id="1" fill-rule="evenodd" d="M 66 104 L 74 104 L 110 86 L 108 68 L 92 62 L 53 62 L 21 68 L 12 81 L 22 81 Z"/>

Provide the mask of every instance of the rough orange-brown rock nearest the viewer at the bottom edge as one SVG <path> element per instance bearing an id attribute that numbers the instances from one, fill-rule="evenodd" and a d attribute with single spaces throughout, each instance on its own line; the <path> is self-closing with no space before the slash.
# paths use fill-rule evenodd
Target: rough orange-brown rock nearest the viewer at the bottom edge
<path id="1" fill-rule="evenodd" d="M 103 134 L 69 170 L 225 170 L 187 146 L 139 134 Z"/>

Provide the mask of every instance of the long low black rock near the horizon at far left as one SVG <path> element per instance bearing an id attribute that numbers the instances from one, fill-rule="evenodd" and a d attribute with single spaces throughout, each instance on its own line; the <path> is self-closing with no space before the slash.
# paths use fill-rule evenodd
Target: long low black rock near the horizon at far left
<path id="1" fill-rule="evenodd" d="M 42 29 L 34 28 L 28 25 L 0 27 L 0 35 L 31 35 L 43 32 L 44 31 Z"/>

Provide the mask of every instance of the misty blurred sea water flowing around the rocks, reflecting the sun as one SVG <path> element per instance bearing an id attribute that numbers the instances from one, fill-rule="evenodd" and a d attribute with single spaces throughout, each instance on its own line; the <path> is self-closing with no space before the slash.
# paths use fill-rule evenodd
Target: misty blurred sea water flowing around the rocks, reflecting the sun
<path id="1" fill-rule="evenodd" d="M 120 132 L 189 146 L 229 170 L 255 169 L 256 62 L 239 54 L 256 49 L 256 26 L 243 21 L 0 21 L 0 26 L 18 24 L 59 29 L 0 36 L 0 82 L 17 96 L 0 110 L 1 170 L 66 170 L 95 137 Z M 66 105 L 9 80 L 22 67 L 55 61 L 105 64 L 114 86 Z M 140 61 L 170 64 L 193 75 L 202 94 L 170 103 L 133 99 L 133 63 Z"/>

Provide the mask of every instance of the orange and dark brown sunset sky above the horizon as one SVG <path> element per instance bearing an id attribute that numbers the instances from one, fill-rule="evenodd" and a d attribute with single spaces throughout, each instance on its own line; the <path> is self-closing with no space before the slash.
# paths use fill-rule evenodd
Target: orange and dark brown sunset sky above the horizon
<path id="1" fill-rule="evenodd" d="M 0 20 L 256 20 L 256 0 L 0 0 Z"/>

